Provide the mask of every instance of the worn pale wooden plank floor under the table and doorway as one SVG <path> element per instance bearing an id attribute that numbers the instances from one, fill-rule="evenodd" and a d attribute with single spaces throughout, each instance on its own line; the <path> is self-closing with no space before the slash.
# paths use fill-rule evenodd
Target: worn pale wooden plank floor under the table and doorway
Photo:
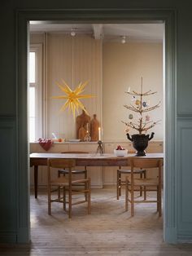
<path id="1" fill-rule="evenodd" d="M 116 188 L 92 189 L 91 214 L 86 214 L 85 205 L 75 205 L 71 220 L 58 203 L 49 216 L 46 193 L 40 192 L 38 199 L 32 193 L 31 239 L 31 245 L 2 245 L 0 255 L 192 255 L 192 245 L 164 243 L 163 219 L 154 203 L 137 204 L 130 217 L 124 196 L 116 200 Z"/>

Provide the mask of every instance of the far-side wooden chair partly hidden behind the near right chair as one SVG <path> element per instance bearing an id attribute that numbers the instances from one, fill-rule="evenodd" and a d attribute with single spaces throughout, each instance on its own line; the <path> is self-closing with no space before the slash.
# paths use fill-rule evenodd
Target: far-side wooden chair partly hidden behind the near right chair
<path id="1" fill-rule="evenodd" d="M 131 170 L 124 170 L 121 169 L 121 166 L 119 166 L 119 169 L 117 169 L 117 179 L 116 179 L 116 199 L 119 200 L 121 196 L 121 188 L 125 185 L 126 180 L 122 179 L 122 174 L 131 174 Z M 139 174 L 140 178 L 146 179 L 146 170 L 139 169 L 134 170 L 134 174 Z M 142 196 L 142 187 L 140 190 L 140 196 Z"/>

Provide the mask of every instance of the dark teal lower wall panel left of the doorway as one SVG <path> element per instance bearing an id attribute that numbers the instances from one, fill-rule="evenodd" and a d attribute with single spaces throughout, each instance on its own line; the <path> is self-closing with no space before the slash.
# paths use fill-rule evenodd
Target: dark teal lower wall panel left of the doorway
<path id="1" fill-rule="evenodd" d="M 16 241 L 17 218 L 17 172 L 15 167 L 15 120 L 14 117 L 0 117 L 0 239 Z"/>

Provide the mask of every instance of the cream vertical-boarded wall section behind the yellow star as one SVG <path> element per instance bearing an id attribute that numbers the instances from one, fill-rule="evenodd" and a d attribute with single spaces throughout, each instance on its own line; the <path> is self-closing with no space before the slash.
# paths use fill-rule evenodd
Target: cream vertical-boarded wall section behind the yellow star
<path id="1" fill-rule="evenodd" d="M 33 34 L 31 43 L 37 42 L 43 43 L 46 57 L 43 109 L 47 129 L 44 136 L 51 138 L 52 132 L 55 132 L 56 135 L 67 140 L 76 139 L 76 121 L 72 113 L 68 110 L 59 111 L 66 100 L 52 99 L 52 97 L 65 95 L 57 86 L 57 82 L 62 83 L 62 79 L 72 90 L 80 82 L 88 81 L 83 94 L 94 95 L 94 98 L 81 99 L 81 102 L 91 118 L 96 113 L 98 121 L 101 121 L 102 42 L 88 35 L 72 38 L 63 33 Z"/>

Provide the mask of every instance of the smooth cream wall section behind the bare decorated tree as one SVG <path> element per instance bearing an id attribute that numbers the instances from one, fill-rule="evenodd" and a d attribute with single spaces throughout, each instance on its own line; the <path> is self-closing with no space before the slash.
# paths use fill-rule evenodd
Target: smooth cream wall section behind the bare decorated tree
<path id="1" fill-rule="evenodd" d="M 125 128 L 121 121 L 129 121 L 130 111 L 124 104 L 132 104 L 132 97 L 124 91 L 139 91 L 143 77 L 143 90 L 157 91 L 146 97 L 150 105 L 161 101 L 160 108 L 148 113 L 151 120 L 161 120 L 149 130 L 155 132 L 155 140 L 163 140 L 163 45 L 161 43 L 103 44 L 103 139 L 125 139 Z M 133 113 L 137 117 L 137 113 Z M 144 116 L 145 117 L 145 116 Z M 130 130 L 130 134 L 137 133 Z"/>

